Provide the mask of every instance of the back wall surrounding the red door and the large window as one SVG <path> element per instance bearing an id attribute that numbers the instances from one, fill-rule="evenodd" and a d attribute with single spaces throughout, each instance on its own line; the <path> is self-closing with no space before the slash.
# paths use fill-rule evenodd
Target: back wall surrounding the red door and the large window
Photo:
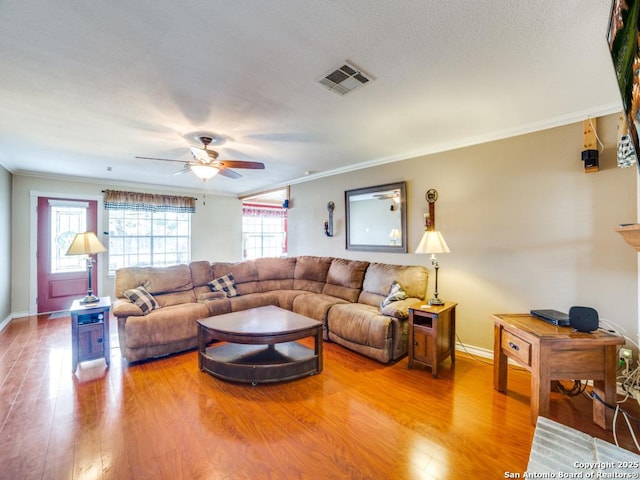
<path id="1" fill-rule="evenodd" d="M 106 183 L 85 183 L 39 178 L 24 175 L 13 176 L 13 222 L 12 257 L 14 269 L 11 276 L 13 290 L 11 308 L 14 314 L 26 315 L 30 302 L 30 291 L 35 279 L 30 275 L 30 250 L 35 232 L 30 225 L 31 192 L 60 195 L 63 197 L 96 196 L 102 197 L 102 190 L 132 190 L 146 193 L 164 193 L 168 195 L 192 195 L 198 198 L 196 213 L 192 217 L 191 257 L 193 260 L 236 261 L 241 258 L 242 242 L 242 204 L 234 197 L 203 195 L 201 192 L 170 191 L 150 189 L 144 186 L 109 185 Z M 99 209 L 99 232 L 107 231 L 107 215 Z M 1 214 L 0 214 L 1 216 Z M 102 237 L 102 235 L 101 235 Z M 106 239 L 105 239 L 106 242 Z M 102 265 L 106 265 L 103 262 Z M 20 268 L 17 268 L 20 266 Z M 113 278 L 109 278 L 106 269 L 99 268 L 98 293 L 113 296 Z"/>

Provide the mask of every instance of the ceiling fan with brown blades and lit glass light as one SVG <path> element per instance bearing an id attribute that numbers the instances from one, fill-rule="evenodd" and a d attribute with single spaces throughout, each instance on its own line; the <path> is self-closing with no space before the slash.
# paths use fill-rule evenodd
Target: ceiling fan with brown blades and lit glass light
<path id="1" fill-rule="evenodd" d="M 191 171 L 203 182 L 206 182 L 213 176 L 223 175 L 228 178 L 241 178 L 238 172 L 231 168 L 249 168 L 253 170 L 264 170 L 264 163 L 248 162 L 244 160 L 218 160 L 218 152 L 209 150 L 207 147 L 213 141 L 212 137 L 199 137 L 203 148 L 191 147 L 192 161 L 189 160 L 173 160 L 170 158 L 154 158 L 154 157 L 136 157 L 141 160 L 160 160 L 163 162 L 176 162 L 184 164 L 183 168 L 178 170 L 174 175 Z"/>

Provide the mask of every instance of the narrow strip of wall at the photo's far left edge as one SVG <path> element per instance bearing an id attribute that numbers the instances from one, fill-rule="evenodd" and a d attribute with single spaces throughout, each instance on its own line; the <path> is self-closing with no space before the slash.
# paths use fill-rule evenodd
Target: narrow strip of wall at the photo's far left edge
<path id="1" fill-rule="evenodd" d="M 0 165 L 0 326 L 11 317 L 11 173 Z"/>

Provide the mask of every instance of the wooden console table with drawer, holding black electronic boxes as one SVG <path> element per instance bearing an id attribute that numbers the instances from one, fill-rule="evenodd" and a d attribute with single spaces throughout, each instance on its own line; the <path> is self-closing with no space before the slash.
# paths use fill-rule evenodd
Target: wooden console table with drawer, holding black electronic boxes
<path id="1" fill-rule="evenodd" d="M 558 327 L 529 314 L 495 314 L 493 341 L 493 386 L 507 390 L 507 359 L 531 372 L 531 423 L 538 415 L 549 416 L 551 382 L 593 380 L 593 421 L 610 429 L 616 404 L 616 347 L 624 338 L 597 330 L 576 332 Z"/>

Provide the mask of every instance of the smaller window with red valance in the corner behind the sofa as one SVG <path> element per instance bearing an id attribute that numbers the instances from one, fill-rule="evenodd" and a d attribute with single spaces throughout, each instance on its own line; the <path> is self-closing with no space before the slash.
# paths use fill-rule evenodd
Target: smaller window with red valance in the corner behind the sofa
<path id="1" fill-rule="evenodd" d="M 282 257 L 287 254 L 287 209 L 244 203 L 242 258 Z"/>

